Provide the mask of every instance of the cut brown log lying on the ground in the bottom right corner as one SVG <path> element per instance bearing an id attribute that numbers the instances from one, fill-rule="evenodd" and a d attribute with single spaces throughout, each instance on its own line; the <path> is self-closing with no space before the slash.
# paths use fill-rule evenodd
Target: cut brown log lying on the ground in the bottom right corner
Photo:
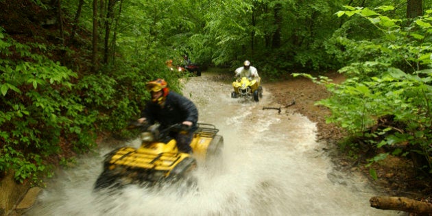
<path id="1" fill-rule="evenodd" d="M 432 204 L 407 197 L 372 197 L 370 206 L 383 210 L 405 211 L 408 213 L 432 214 Z"/>

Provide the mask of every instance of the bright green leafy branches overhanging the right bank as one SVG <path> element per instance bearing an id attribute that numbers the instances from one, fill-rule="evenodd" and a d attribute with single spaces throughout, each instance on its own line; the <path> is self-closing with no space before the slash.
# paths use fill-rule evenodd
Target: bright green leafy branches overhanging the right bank
<path id="1" fill-rule="evenodd" d="M 394 148 L 374 156 L 370 163 L 383 160 L 388 154 L 412 154 L 425 161 L 418 169 L 425 166 L 425 171 L 431 172 L 432 147 L 428 140 L 432 134 L 432 11 L 403 28 L 400 19 L 390 19 L 368 8 L 346 8 L 337 16 L 359 15 L 379 29 L 382 36 L 374 40 L 341 40 L 350 45 L 348 52 L 357 53 L 357 62 L 339 70 L 347 77 L 344 83 L 326 83 L 333 95 L 317 105 L 331 109 L 328 123 L 337 123 L 372 147 Z M 376 8 L 382 12 L 392 9 Z M 391 117 L 393 124 L 372 130 L 383 117 Z M 409 144 L 402 147 L 403 143 Z"/>

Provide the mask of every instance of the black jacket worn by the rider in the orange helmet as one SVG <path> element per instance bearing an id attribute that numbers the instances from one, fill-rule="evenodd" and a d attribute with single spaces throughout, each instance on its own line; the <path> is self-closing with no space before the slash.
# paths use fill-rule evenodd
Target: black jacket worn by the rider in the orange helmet
<path id="1" fill-rule="evenodd" d="M 141 112 L 141 117 L 145 117 L 147 122 L 151 124 L 157 121 L 162 128 L 183 121 L 191 121 L 193 123 L 191 131 L 194 131 L 197 129 L 198 110 L 191 100 L 170 91 L 163 108 L 152 101 L 148 101 Z"/>

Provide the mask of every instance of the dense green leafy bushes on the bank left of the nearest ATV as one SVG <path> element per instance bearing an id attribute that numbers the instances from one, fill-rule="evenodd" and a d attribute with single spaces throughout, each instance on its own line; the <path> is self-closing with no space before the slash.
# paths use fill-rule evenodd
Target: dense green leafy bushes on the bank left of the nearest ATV
<path id="1" fill-rule="evenodd" d="M 12 169 L 19 182 L 36 182 L 45 171 L 41 158 L 60 153 L 61 136 L 86 141 L 80 147 L 94 143 L 88 139 L 94 119 L 71 91 L 76 73 L 38 54 L 45 45 L 0 36 L 0 169 Z"/>

